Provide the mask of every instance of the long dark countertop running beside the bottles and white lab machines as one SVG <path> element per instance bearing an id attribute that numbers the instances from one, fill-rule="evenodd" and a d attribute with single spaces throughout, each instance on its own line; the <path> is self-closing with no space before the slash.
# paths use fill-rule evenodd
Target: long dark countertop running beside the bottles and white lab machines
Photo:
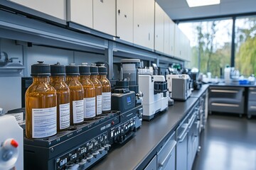
<path id="1" fill-rule="evenodd" d="M 201 90 L 193 92 L 193 96 L 203 94 L 207 88 L 208 85 L 203 86 Z M 159 113 L 151 121 L 143 121 L 142 128 L 139 128 L 131 140 L 120 147 L 115 147 L 92 169 L 143 169 L 197 100 L 197 97 L 190 97 L 185 102 L 175 102 L 174 106 L 170 106 L 164 113 Z"/>

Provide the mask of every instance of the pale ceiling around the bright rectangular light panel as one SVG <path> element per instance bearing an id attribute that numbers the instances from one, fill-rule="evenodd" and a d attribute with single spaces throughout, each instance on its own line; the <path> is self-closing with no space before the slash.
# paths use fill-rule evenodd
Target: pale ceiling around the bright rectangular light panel
<path id="1" fill-rule="evenodd" d="M 219 5 L 189 8 L 186 0 L 156 0 L 174 21 L 193 18 L 256 14 L 256 0 L 220 0 Z"/>

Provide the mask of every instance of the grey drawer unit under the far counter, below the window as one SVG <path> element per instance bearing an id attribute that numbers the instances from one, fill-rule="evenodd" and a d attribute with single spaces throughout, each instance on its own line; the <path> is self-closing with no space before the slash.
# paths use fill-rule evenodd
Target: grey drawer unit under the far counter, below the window
<path id="1" fill-rule="evenodd" d="M 245 112 L 245 88 L 234 86 L 210 86 L 209 111 L 238 113 Z"/>

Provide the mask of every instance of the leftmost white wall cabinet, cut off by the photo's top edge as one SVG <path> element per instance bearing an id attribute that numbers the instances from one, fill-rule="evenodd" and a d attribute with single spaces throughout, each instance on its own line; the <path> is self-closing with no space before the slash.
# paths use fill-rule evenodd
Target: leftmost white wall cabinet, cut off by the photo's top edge
<path id="1" fill-rule="evenodd" d="M 50 16 L 66 20 L 66 1 L 65 0 L 10 0 L 17 4 L 33 8 L 36 11 L 46 13 Z"/>

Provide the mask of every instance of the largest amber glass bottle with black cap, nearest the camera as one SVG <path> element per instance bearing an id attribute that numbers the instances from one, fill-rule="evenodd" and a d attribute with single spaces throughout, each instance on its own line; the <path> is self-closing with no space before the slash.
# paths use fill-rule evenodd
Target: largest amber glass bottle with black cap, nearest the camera
<path id="1" fill-rule="evenodd" d="M 33 83 L 25 94 L 26 137 L 43 138 L 57 133 L 57 95 L 50 86 L 50 65 L 38 62 L 31 66 Z"/>

